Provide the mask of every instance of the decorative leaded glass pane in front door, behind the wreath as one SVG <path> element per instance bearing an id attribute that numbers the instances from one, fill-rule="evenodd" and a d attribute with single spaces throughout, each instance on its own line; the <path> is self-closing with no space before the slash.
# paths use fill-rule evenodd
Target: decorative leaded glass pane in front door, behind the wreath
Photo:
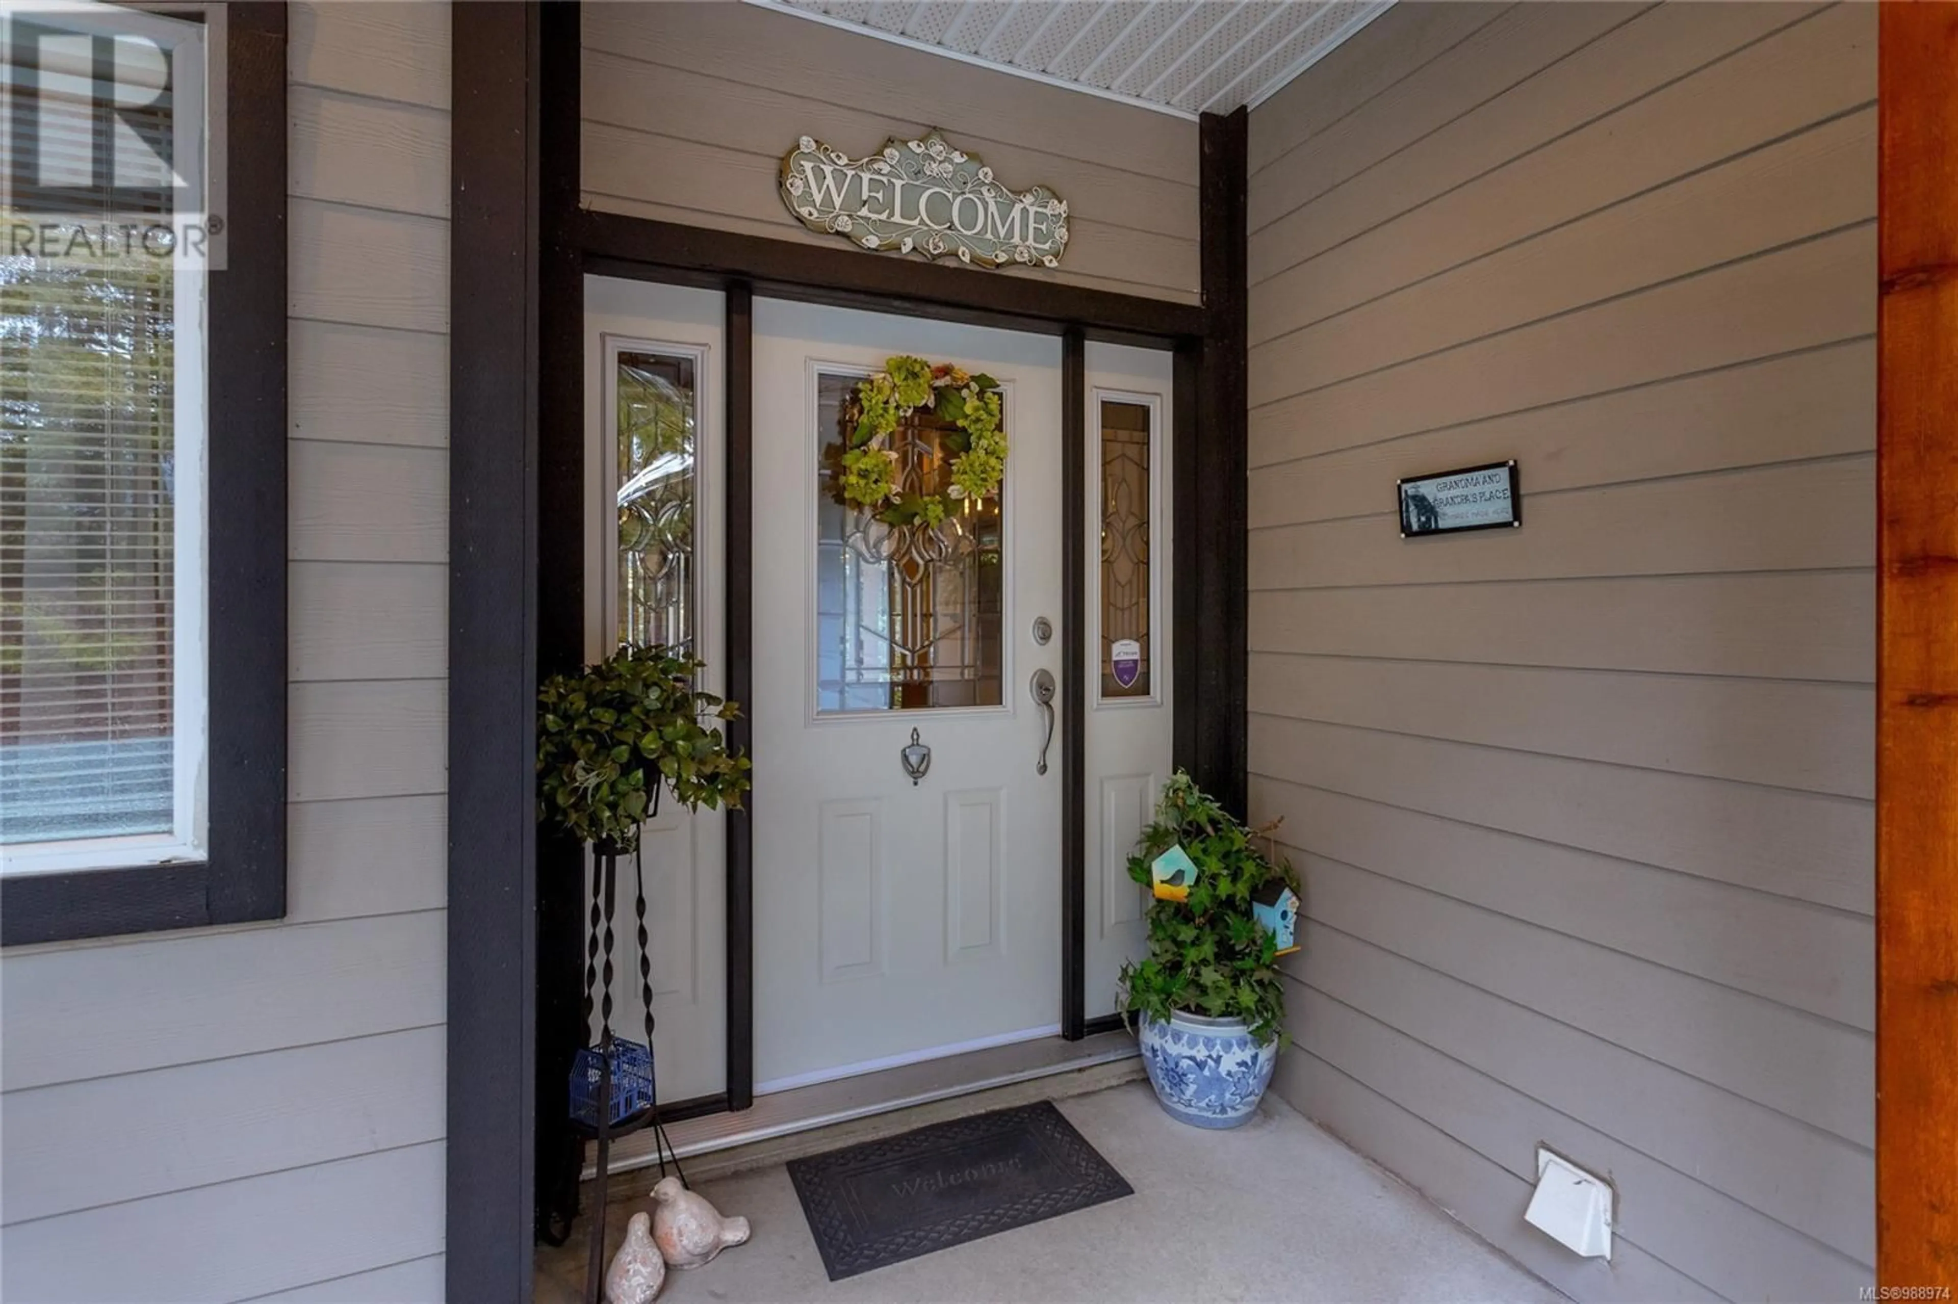
<path id="1" fill-rule="evenodd" d="M 830 450 L 862 376 L 816 376 L 816 711 L 1002 703 L 1002 499 L 963 499 L 936 527 L 846 507 Z M 956 427 L 912 413 L 893 437 L 897 488 L 946 493 Z"/>

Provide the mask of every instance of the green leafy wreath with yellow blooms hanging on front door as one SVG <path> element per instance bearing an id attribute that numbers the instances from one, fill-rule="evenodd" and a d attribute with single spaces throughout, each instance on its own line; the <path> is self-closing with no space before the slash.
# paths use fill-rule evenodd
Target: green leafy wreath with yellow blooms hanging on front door
<path id="1" fill-rule="evenodd" d="M 952 425 L 952 486 L 946 493 L 907 493 L 897 486 L 897 448 L 891 437 L 918 407 Z M 865 376 L 844 407 L 844 435 L 830 444 L 830 478 L 846 507 L 871 513 L 885 525 L 938 525 L 954 501 L 991 497 L 1006 476 L 1006 431 L 1001 429 L 1001 388 L 991 376 L 957 366 L 932 366 L 901 354 Z"/>

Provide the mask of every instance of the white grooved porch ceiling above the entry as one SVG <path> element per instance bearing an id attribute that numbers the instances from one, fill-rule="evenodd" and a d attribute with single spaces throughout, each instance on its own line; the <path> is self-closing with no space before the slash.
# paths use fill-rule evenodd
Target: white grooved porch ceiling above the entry
<path id="1" fill-rule="evenodd" d="M 1175 114 L 1257 106 L 1392 0 L 748 0 Z"/>

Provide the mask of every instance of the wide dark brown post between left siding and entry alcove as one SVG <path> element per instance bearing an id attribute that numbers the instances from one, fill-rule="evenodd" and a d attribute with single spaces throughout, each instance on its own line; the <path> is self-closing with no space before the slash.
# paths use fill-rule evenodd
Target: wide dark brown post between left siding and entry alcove
<path id="1" fill-rule="evenodd" d="M 456 4 L 448 284 L 450 1300 L 531 1298 L 536 4 Z"/>

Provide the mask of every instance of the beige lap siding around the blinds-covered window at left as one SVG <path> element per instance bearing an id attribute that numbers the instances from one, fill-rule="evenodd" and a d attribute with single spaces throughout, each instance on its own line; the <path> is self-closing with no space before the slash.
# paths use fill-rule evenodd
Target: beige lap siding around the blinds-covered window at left
<path id="1" fill-rule="evenodd" d="M 290 914 L 0 957 L 8 1300 L 443 1290 L 448 6 L 288 67 Z"/>

